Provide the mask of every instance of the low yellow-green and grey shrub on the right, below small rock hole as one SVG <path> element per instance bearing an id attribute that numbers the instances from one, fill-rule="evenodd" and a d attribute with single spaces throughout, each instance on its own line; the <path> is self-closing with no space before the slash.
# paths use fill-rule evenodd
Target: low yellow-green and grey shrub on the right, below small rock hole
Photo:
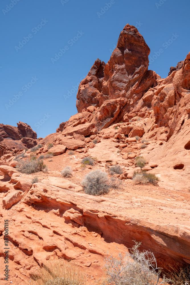
<path id="1" fill-rule="evenodd" d="M 157 184 L 158 181 L 160 181 L 160 179 L 158 178 L 158 176 L 156 176 L 153 173 L 148 173 L 146 171 L 134 171 L 133 172 L 133 177 L 132 180 L 136 183 L 136 184 L 147 184 L 147 183 L 151 183 L 153 185 Z"/>

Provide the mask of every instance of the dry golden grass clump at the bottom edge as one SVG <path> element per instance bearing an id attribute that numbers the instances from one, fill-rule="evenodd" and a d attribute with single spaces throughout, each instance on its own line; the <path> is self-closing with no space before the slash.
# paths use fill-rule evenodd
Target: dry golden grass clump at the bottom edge
<path id="1" fill-rule="evenodd" d="M 79 266 L 65 260 L 49 261 L 31 276 L 34 285 L 85 285 L 85 273 Z"/>

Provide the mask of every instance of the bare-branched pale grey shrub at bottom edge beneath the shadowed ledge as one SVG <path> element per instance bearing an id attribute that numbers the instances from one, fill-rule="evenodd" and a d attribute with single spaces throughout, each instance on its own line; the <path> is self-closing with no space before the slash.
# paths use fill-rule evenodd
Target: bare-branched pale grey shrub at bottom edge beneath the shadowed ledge
<path id="1" fill-rule="evenodd" d="M 105 268 L 107 283 L 111 285 L 159 285 L 165 283 L 160 278 L 154 254 L 148 250 L 139 251 L 141 243 L 135 243 L 130 253 L 119 253 L 118 257 L 107 256 Z"/>

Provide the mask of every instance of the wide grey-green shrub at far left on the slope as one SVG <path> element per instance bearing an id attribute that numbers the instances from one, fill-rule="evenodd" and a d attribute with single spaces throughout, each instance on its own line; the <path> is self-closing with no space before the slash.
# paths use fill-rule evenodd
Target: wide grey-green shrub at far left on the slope
<path id="1" fill-rule="evenodd" d="M 43 160 L 24 160 L 21 161 L 20 166 L 18 167 L 19 172 L 30 174 L 38 171 L 47 171 L 47 167 L 44 164 Z"/>

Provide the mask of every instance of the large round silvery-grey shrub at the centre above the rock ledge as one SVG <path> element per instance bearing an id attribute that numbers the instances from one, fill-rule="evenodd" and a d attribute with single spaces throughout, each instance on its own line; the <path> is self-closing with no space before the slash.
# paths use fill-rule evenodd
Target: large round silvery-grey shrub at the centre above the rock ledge
<path id="1" fill-rule="evenodd" d="M 100 169 L 88 173 L 81 182 L 84 192 L 90 195 L 101 195 L 109 192 L 109 178 Z"/>

